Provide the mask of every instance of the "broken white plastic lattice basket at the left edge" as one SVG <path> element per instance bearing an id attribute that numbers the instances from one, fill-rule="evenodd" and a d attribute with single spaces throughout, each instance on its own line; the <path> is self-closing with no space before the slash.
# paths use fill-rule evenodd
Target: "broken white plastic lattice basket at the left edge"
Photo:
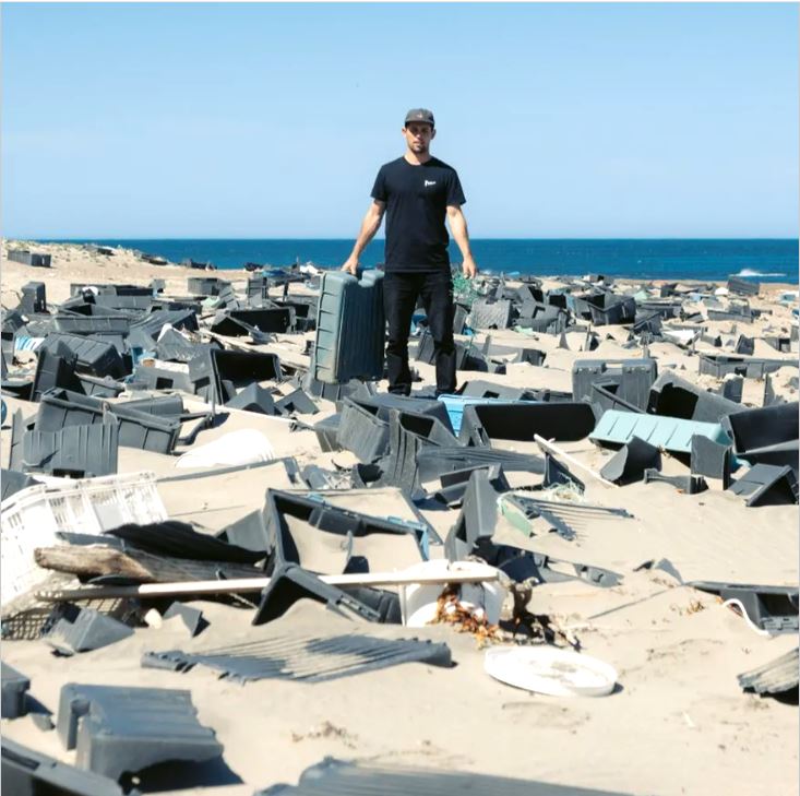
<path id="1" fill-rule="evenodd" d="M 81 478 L 51 487 L 35 485 L 0 504 L 0 604 L 35 587 L 47 578 L 36 566 L 34 549 L 59 544 L 56 534 L 99 535 L 126 523 L 167 519 L 154 473 Z"/>

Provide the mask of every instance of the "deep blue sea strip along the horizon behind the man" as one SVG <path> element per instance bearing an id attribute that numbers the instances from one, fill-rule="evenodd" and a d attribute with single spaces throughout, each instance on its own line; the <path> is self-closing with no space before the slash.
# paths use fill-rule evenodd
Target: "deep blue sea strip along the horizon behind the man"
<path id="1" fill-rule="evenodd" d="M 271 266 L 312 262 L 325 268 L 341 265 L 353 239 L 93 239 L 91 242 L 122 246 L 171 262 L 191 258 L 212 262 L 218 269 L 241 269 L 246 262 Z M 512 274 L 560 274 L 643 280 L 724 281 L 729 275 L 761 282 L 798 282 L 797 239 L 478 239 L 473 253 L 481 271 Z M 383 260 L 383 241 L 373 240 L 361 263 Z M 461 254 L 451 243 L 451 261 Z"/>

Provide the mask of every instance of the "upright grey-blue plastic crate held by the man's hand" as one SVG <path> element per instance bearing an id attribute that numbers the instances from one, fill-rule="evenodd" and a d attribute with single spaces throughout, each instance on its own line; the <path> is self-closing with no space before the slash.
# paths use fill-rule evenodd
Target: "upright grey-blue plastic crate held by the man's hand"
<path id="1" fill-rule="evenodd" d="M 313 375 L 327 384 L 383 376 L 383 272 L 361 280 L 342 271 L 322 277 Z"/>

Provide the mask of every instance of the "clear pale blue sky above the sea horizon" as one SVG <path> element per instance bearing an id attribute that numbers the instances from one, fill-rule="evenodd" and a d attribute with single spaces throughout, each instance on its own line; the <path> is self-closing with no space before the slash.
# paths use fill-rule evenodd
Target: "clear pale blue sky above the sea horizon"
<path id="1" fill-rule="evenodd" d="M 354 237 L 407 108 L 473 237 L 795 237 L 798 7 L 3 4 L 7 237 Z"/>

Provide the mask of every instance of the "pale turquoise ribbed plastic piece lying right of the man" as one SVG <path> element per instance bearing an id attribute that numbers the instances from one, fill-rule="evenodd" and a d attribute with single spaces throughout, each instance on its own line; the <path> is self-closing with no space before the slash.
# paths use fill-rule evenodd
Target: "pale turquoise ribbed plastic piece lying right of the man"
<path id="1" fill-rule="evenodd" d="M 604 412 L 589 439 L 594 442 L 624 445 L 638 437 L 656 448 L 676 453 L 691 453 L 692 437 L 695 435 L 707 437 L 719 444 L 730 444 L 730 438 L 718 423 L 697 423 L 618 409 Z"/>

